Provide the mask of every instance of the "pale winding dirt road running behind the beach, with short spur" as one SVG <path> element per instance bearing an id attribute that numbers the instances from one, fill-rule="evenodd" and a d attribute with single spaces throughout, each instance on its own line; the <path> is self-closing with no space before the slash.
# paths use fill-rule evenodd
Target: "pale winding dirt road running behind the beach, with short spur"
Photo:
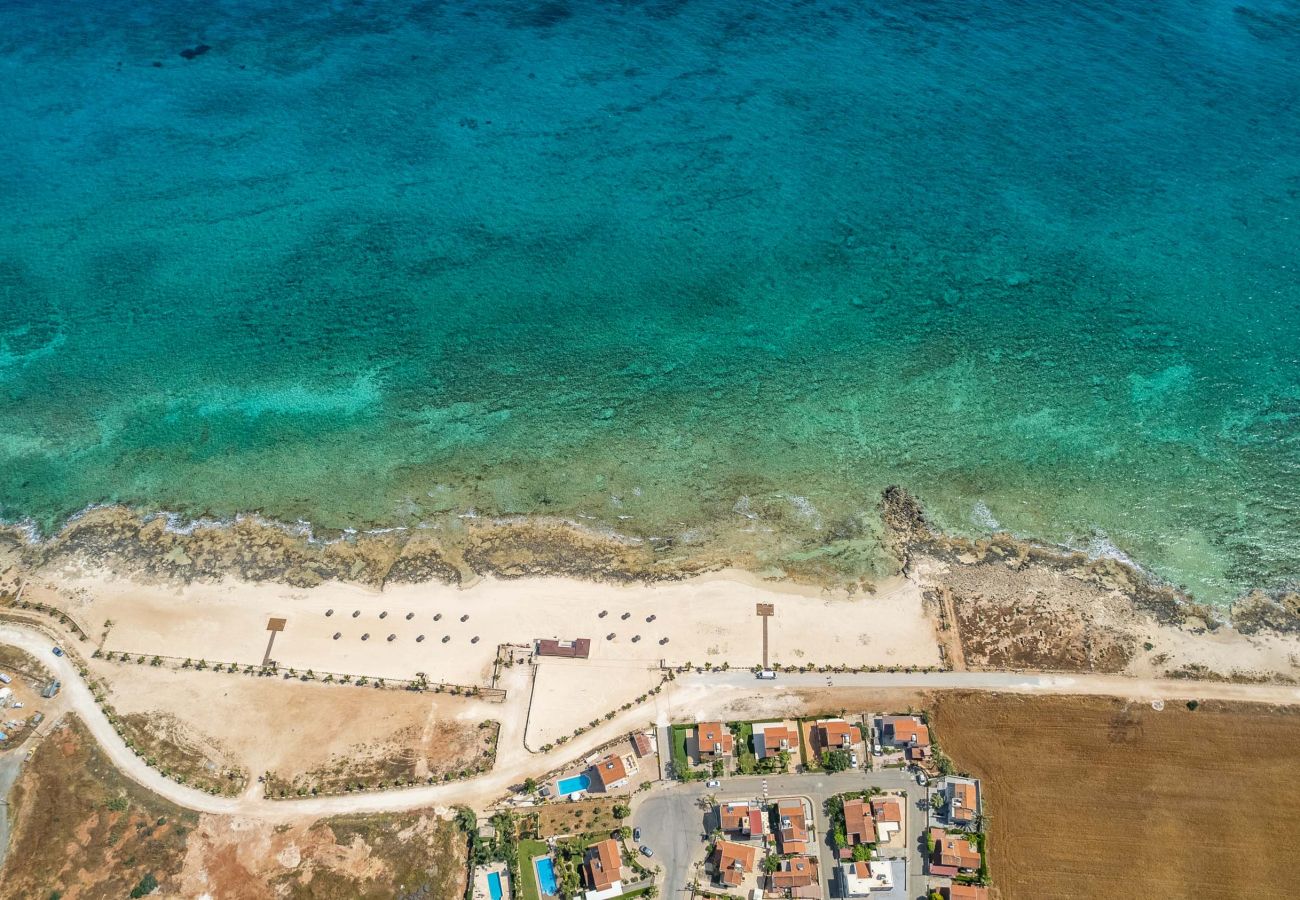
<path id="1" fill-rule="evenodd" d="M 524 722 L 529 702 L 526 667 L 519 667 L 508 696 L 494 708 L 502 722 L 495 767 L 477 778 L 411 787 L 373 793 L 350 793 L 329 797 L 268 800 L 255 793 L 240 797 L 214 797 L 172 782 L 148 767 L 122 741 L 95 702 L 90 688 L 66 655 L 51 652 L 48 636 L 34 628 L 0 624 L 0 644 L 26 650 L 42 662 L 64 684 L 65 702 L 86 723 L 104 753 L 127 778 L 170 800 L 200 813 L 250 815 L 264 821 L 295 821 L 350 813 L 384 813 L 422 808 L 448 808 L 459 804 L 482 809 L 491 805 L 528 776 L 537 776 L 581 758 L 603 744 L 654 722 L 702 717 L 728 718 L 733 710 L 754 706 L 806 705 L 810 700 L 826 704 L 829 697 L 853 698 L 857 692 L 883 691 L 994 691 L 1013 693 L 1054 693 L 1115 696 L 1141 702 L 1157 700 L 1222 700 L 1300 705 L 1300 687 L 1277 684 L 1231 684 L 1225 682 L 1132 679 L 1118 675 L 1035 675 L 1018 672 L 870 672 L 870 674 L 803 674 L 763 682 L 748 671 L 681 675 L 664 685 L 664 691 L 646 704 L 620 713 L 568 744 L 547 753 L 524 749 Z"/>

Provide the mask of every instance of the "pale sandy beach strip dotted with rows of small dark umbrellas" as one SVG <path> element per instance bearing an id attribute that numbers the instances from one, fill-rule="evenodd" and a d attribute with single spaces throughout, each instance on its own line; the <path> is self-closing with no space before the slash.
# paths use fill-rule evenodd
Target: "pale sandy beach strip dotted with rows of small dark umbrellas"
<path id="1" fill-rule="evenodd" d="M 112 622 L 109 650 L 256 665 L 266 649 L 268 619 L 283 616 L 287 626 L 272 653 L 281 666 L 378 678 L 425 672 L 434 682 L 454 684 L 484 684 L 498 645 L 530 644 L 538 637 L 590 637 L 594 661 L 632 667 L 706 661 L 749 667 L 762 657 L 758 602 L 776 606 L 770 635 L 776 663 L 940 662 L 920 589 L 905 580 L 875 596 L 850 598 L 784 590 L 740 572 L 654 585 L 547 577 L 385 590 L 341 583 L 296 589 L 231 580 L 178 588 L 96 574 L 47 580 L 42 593 L 52 593 L 92 635 Z M 326 616 L 328 610 L 333 615 Z M 654 620 L 647 622 L 651 615 Z M 468 619 L 462 622 L 462 616 Z M 338 640 L 335 632 L 342 635 Z M 363 635 L 369 639 L 361 640 Z M 389 635 L 395 636 L 393 641 Z M 420 635 L 422 642 L 416 640 Z M 634 636 L 640 640 L 633 641 Z"/>

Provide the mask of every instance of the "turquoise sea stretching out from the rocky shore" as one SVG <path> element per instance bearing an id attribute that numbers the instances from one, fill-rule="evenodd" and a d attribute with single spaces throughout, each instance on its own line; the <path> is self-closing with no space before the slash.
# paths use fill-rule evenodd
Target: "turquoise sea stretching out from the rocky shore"
<path id="1" fill-rule="evenodd" d="M 1300 579 L 1300 3 L 0 4 L 0 518 L 894 483 Z"/>

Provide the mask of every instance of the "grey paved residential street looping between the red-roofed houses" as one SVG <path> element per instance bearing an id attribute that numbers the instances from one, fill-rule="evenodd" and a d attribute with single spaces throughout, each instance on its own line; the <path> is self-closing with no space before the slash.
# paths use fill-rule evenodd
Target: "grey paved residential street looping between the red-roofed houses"
<path id="1" fill-rule="evenodd" d="M 926 893 L 926 878 L 922 873 L 923 834 L 926 827 L 926 789 L 916 784 L 915 778 L 904 770 L 890 769 L 879 773 L 846 771 L 835 775 L 810 773 L 806 775 L 738 775 L 719 779 L 718 788 L 705 787 L 703 782 L 689 784 L 668 783 L 656 787 L 636 806 L 632 823 L 641 828 L 641 843 L 654 851 L 654 860 L 664 871 L 663 896 L 682 896 L 696 875 L 694 862 L 703 856 L 703 839 L 716 827 L 712 809 L 705 810 L 705 797 L 716 800 L 762 800 L 763 783 L 767 783 L 767 796 L 807 797 L 815 813 L 814 835 L 822 866 L 822 880 L 826 896 L 832 896 L 829 888 L 833 873 L 835 848 L 827 831 L 824 804 L 836 793 L 864 791 L 872 784 L 885 791 L 906 791 L 907 793 L 907 880 L 910 896 L 922 897 Z M 703 882 L 705 875 L 701 874 Z"/>

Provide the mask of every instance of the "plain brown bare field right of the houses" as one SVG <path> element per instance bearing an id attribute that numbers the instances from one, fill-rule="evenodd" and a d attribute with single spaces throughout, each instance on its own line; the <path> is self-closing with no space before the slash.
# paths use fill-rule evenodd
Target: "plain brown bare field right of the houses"
<path id="1" fill-rule="evenodd" d="M 1004 900 L 1294 897 L 1300 710 L 939 695 Z"/>

